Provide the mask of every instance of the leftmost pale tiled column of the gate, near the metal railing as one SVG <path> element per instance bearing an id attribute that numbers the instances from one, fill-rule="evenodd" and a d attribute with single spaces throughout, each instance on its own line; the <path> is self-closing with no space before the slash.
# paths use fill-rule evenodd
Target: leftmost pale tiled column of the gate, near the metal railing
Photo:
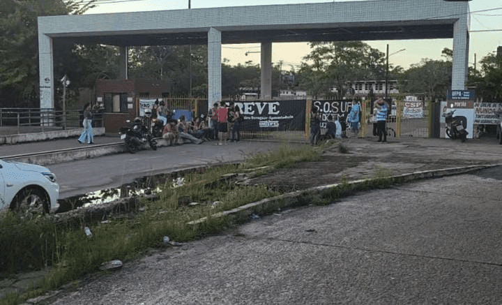
<path id="1" fill-rule="evenodd" d="M 54 53 L 52 38 L 38 34 L 38 69 L 40 73 L 40 110 L 54 108 Z"/>

